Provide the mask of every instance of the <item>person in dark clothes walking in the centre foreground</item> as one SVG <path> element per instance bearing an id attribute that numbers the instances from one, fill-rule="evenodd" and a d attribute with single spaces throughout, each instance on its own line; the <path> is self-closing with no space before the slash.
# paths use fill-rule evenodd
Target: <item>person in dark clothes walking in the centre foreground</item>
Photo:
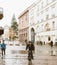
<path id="1" fill-rule="evenodd" d="M 26 50 L 28 49 L 28 60 L 34 59 L 33 58 L 33 51 L 35 50 L 34 44 L 29 41 L 29 43 L 26 46 Z"/>

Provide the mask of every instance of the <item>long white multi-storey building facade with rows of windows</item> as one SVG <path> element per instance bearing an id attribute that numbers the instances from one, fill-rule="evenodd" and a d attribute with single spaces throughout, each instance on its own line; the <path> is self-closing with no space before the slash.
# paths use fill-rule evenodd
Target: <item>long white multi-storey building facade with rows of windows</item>
<path id="1" fill-rule="evenodd" d="M 32 31 L 34 32 L 32 32 Z M 32 35 L 33 33 L 33 35 Z M 57 41 L 57 0 L 38 0 L 29 9 L 29 40 Z"/>

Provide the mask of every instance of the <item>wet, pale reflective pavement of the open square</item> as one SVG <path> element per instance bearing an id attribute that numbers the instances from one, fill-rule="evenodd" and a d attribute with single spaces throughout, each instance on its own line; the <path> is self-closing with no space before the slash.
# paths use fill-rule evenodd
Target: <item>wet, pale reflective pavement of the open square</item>
<path id="1" fill-rule="evenodd" d="M 28 65 L 25 46 L 7 46 L 6 55 L 0 53 L 0 65 Z M 34 60 L 31 65 L 57 65 L 57 47 L 35 45 Z"/>

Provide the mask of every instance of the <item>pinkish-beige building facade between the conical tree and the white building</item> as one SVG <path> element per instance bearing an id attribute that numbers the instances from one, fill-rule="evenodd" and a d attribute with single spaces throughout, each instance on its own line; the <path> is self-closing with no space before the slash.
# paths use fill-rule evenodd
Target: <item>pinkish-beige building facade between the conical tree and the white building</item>
<path id="1" fill-rule="evenodd" d="M 28 40 L 28 33 L 29 33 L 29 11 L 26 9 L 23 11 L 22 14 L 18 17 L 19 19 L 19 41 L 25 42 L 25 40 Z"/>

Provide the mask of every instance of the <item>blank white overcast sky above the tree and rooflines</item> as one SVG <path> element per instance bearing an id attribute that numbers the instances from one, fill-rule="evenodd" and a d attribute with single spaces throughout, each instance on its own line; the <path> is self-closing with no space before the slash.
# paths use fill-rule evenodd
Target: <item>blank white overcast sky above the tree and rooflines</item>
<path id="1" fill-rule="evenodd" d="M 4 17 L 0 20 L 0 26 L 11 24 L 13 14 L 18 21 L 18 15 L 29 7 L 36 0 L 0 0 L 0 7 L 3 8 Z"/>

